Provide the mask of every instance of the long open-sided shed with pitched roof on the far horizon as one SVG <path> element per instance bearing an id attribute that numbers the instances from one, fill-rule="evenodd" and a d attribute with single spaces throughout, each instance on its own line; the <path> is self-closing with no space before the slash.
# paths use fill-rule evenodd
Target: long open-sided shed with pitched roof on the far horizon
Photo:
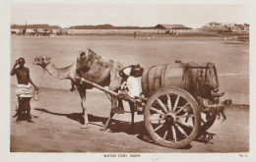
<path id="1" fill-rule="evenodd" d="M 158 29 L 160 33 L 170 33 L 175 34 L 178 32 L 187 32 L 187 29 L 192 29 L 191 27 L 185 27 L 183 25 L 158 25 L 154 27 L 155 29 Z"/>

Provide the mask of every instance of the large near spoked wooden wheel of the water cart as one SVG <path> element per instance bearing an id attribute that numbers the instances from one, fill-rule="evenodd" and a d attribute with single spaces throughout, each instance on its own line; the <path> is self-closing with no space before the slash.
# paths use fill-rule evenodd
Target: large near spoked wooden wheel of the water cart
<path id="1" fill-rule="evenodd" d="M 199 134 L 201 114 L 196 100 L 187 91 L 179 87 L 163 87 L 149 98 L 144 121 L 156 142 L 180 148 Z"/>

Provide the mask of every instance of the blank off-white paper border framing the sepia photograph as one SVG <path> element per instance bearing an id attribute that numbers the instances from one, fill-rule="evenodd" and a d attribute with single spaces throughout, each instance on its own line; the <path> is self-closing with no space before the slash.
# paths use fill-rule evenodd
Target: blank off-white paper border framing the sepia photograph
<path id="1" fill-rule="evenodd" d="M 104 158 L 103 153 L 14 153 L 10 152 L 10 7 L 13 3 L 145 3 L 145 4 L 248 4 L 250 6 L 250 151 L 248 153 L 140 153 L 140 158 Z M 22 0 L 22 1 L 1 1 L 1 113 L 0 113 L 0 161 L 5 162 L 45 162 L 45 161 L 168 161 L 168 162 L 182 162 L 182 161 L 256 161 L 255 151 L 255 102 L 253 96 L 255 95 L 255 25 L 256 25 L 256 9 L 253 0 L 216 0 L 216 1 L 188 1 L 188 0 Z M 129 154 L 129 153 L 125 153 Z M 244 155 L 241 157 L 240 154 Z M 245 157 L 245 155 L 247 157 Z"/>

